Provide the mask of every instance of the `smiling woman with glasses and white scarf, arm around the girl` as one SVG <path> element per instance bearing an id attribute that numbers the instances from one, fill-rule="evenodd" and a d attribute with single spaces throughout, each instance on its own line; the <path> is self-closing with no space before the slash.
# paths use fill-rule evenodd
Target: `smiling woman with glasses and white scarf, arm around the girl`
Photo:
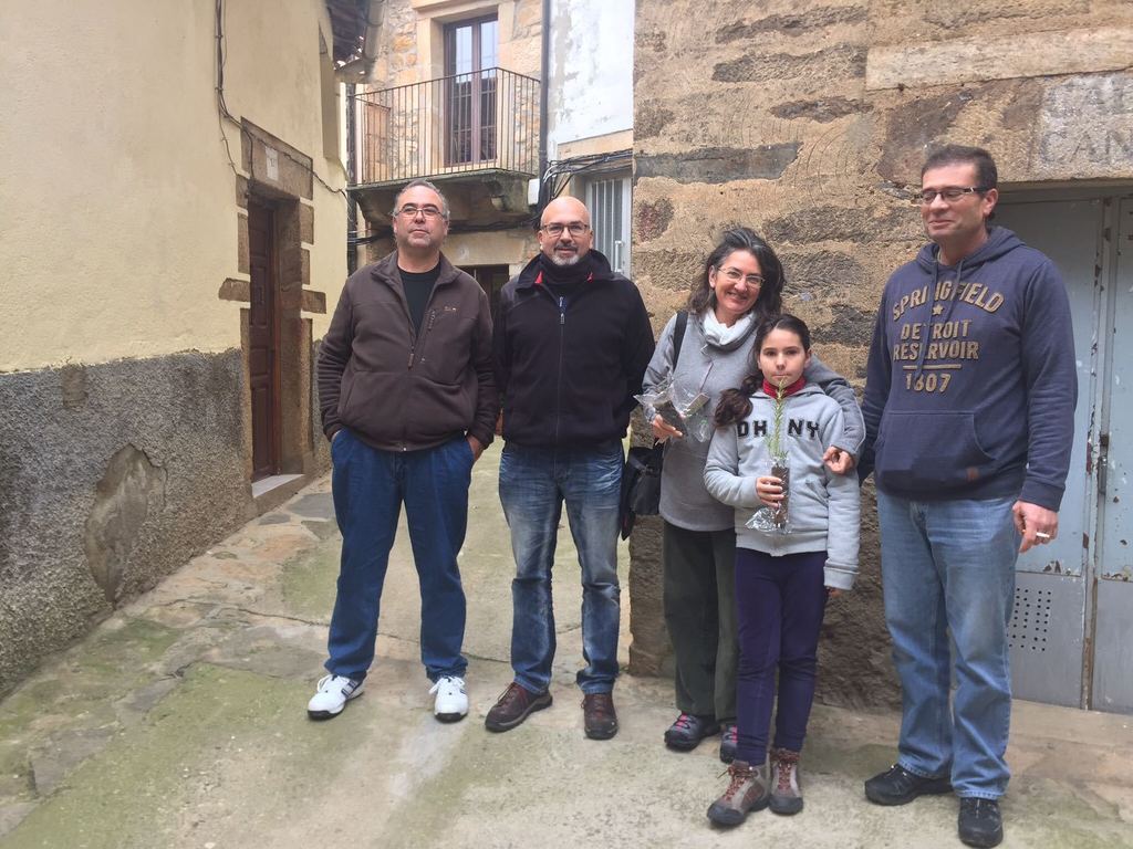
<path id="1" fill-rule="evenodd" d="M 783 283 L 783 266 L 767 242 L 748 228 L 724 233 L 689 297 L 680 344 L 679 316 L 662 332 L 646 371 L 645 391 L 672 377 L 679 398 L 707 396 L 701 409 L 710 417 L 721 393 L 739 386 L 750 370 L 755 331 L 780 314 Z M 843 410 L 843 438 L 826 458 L 830 469 L 844 474 L 853 468 L 866 435 L 853 389 L 817 357 L 811 358 L 806 378 Z M 719 757 L 731 763 L 736 746 L 739 661 L 734 512 L 705 488 L 712 434 L 690 429 L 682 435 L 661 415 L 651 423 L 654 436 L 665 441 L 661 479 L 664 607 L 676 660 L 680 711 L 665 731 L 665 745 L 687 752 L 705 737 L 723 732 Z"/>

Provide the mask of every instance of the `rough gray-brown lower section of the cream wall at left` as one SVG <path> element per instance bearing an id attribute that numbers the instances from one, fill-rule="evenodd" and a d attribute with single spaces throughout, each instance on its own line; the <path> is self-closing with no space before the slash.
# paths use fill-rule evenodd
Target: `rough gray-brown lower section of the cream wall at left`
<path id="1" fill-rule="evenodd" d="M 252 515 L 238 351 L 0 375 L 0 695 Z"/>

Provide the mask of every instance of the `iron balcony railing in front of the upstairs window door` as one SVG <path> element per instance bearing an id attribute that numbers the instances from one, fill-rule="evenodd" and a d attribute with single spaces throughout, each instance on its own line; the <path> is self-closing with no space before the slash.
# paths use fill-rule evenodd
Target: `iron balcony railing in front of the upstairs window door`
<path id="1" fill-rule="evenodd" d="M 355 97 L 358 183 L 539 163 L 539 80 L 488 68 Z"/>

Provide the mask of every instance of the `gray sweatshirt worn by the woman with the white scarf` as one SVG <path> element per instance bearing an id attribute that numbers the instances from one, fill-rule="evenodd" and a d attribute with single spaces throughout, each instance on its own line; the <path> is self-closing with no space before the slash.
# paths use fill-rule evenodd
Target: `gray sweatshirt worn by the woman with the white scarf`
<path id="1" fill-rule="evenodd" d="M 673 316 L 657 340 L 653 360 L 645 372 L 645 391 L 649 392 L 673 370 Z M 715 345 L 705 337 L 704 324 L 699 315 L 689 316 L 681 342 L 681 353 L 673 378 L 679 388 L 690 396 L 704 392 L 709 396 L 705 410 L 712 415 L 719 403 L 724 389 L 732 389 L 751 374 L 751 344 L 755 341 L 755 324 L 751 332 L 726 346 Z M 832 371 L 817 357 L 811 355 L 804 377 L 829 394 L 842 408 L 845 429 L 837 446 L 854 456 L 866 438 L 866 423 L 853 389 L 837 372 Z M 708 457 L 708 440 L 697 441 L 692 437 L 670 439 L 665 443 L 665 465 L 661 474 L 661 516 L 666 522 L 688 531 L 724 531 L 732 526 L 733 516 L 727 505 L 721 504 L 705 489 L 705 460 Z M 855 475 L 851 474 L 851 478 Z"/>

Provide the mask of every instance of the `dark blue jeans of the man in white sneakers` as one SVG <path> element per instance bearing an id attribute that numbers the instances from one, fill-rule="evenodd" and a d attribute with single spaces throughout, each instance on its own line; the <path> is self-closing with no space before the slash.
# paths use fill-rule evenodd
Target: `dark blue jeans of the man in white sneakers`
<path id="1" fill-rule="evenodd" d="M 331 483 L 342 560 L 327 670 L 361 680 L 374 662 L 382 584 L 404 503 L 421 593 L 421 663 L 434 681 L 463 677 L 465 590 L 457 554 L 468 523 L 474 461 L 468 440 L 392 452 L 373 448 L 349 430 L 339 432 L 331 443 Z"/>

